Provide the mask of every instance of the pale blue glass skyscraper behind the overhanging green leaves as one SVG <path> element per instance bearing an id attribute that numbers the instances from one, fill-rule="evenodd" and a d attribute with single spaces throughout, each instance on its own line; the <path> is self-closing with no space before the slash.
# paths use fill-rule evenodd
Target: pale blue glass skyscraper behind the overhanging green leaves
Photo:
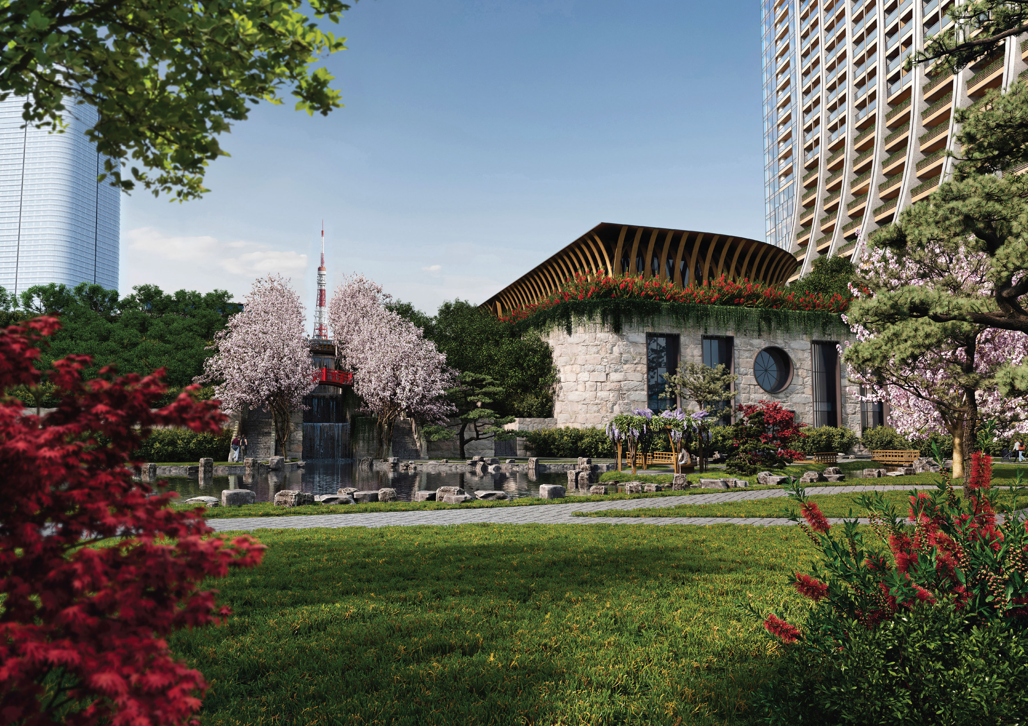
<path id="1" fill-rule="evenodd" d="M 97 183 L 103 159 L 84 131 L 91 106 L 65 112 L 64 133 L 23 127 L 24 98 L 0 102 L 0 286 L 118 285 L 120 192 Z"/>

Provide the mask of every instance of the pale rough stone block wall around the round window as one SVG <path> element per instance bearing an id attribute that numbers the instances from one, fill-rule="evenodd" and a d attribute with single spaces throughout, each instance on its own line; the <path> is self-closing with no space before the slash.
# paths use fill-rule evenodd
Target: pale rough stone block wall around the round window
<path id="1" fill-rule="evenodd" d="M 558 426 L 602 427 L 622 413 L 631 413 L 647 406 L 647 333 L 677 334 L 682 360 L 703 360 L 704 336 L 734 338 L 735 373 L 739 375 L 733 404 L 755 404 L 761 399 L 778 400 L 800 420 L 813 422 L 812 411 L 812 348 L 813 341 L 838 340 L 830 336 L 810 336 L 799 331 L 767 332 L 760 337 L 755 332 L 736 335 L 730 329 L 708 326 L 683 328 L 671 322 L 647 326 L 625 326 L 620 335 L 598 324 L 578 326 L 568 336 L 555 329 L 547 336 L 553 348 L 553 359 L 560 374 L 553 413 Z M 768 346 L 784 350 L 793 362 L 793 378 L 779 393 L 768 393 L 754 377 L 754 359 Z M 845 366 L 842 365 L 841 426 L 860 433 L 860 405 L 847 390 Z M 695 407 L 695 402 L 683 402 Z"/>

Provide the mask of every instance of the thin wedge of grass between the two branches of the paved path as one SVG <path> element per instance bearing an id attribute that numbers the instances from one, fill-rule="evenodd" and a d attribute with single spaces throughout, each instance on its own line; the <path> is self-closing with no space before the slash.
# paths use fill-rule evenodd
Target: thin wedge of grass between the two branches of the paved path
<path id="1" fill-rule="evenodd" d="M 924 490 L 922 490 L 924 491 Z M 901 514 L 906 514 L 910 504 L 907 492 L 882 492 Z M 810 497 L 825 517 L 867 517 L 867 510 L 857 504 L 860 494 L 820 494 Z M 957 492 L 957 496 L 961 496 Z M 1000 499 L 1000 501 L 1003 501 Z M 598 511 L 576 511 L 575 517 L 743 517 L 766 518 L 787 517 L 790 509 L 799 515 L 800 507 L 795 499 L 773 497 L 770 499 L 746 499 L 713 504 L 678 504 L 677 506 L 655 506 L 642 509 L 600 509 Z"/>

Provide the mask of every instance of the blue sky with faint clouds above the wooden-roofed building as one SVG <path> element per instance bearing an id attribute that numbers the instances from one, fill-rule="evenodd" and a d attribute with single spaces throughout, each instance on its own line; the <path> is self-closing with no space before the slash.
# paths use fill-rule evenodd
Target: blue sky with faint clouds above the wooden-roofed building
<path id="1" fill-rule="evenodd" d="M 331 286 L 430 312 L 599 222 L 764 238 L 757 2 L 361 0 L 333 30 L 344 108 L 258 106 L 203 200 L 122 197 L 122 294 L 273 271 L 309 309 L 322 219 Z"/>

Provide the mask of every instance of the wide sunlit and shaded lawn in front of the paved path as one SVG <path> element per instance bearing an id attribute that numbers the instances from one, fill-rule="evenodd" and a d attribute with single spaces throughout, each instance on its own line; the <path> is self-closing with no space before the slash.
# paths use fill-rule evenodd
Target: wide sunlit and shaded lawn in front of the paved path
<path id="1" fill-rule="evenodd" d="M 796 528 L 463 525 L 261 530 L 212 583 L 234 615 L 173 649 L 205 726 L 736 724 L 802 620 Z"/>

